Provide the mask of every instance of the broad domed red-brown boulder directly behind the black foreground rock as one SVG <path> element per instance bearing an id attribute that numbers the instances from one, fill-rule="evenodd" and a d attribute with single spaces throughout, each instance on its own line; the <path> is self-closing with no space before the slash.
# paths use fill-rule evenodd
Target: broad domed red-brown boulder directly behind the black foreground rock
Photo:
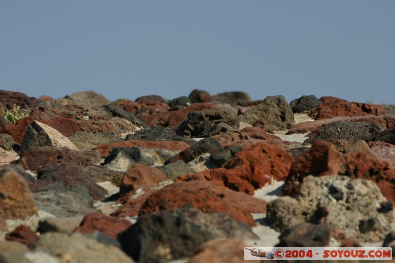
<path id="1" fill-rule="evenodd" d="M 239 223 L 254 226 L 251 213 L 266 213 L 267 202 L 211 182 L 178 182 L 152 193 L 139 214 L 176 210 L 185 204 L 204 213 L 228 214 Z"/>

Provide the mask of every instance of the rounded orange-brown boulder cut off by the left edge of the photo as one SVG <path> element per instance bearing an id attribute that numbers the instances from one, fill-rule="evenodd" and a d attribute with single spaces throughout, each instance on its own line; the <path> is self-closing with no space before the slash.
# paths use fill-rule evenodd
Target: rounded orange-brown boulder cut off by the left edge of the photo
<path id="1" fill-rule="evenodd" d="M 37 214 L 37 206 L 25 180 L 14 169 L 0 169 L 0 208 L 4 219 L 25 219 Z"/>

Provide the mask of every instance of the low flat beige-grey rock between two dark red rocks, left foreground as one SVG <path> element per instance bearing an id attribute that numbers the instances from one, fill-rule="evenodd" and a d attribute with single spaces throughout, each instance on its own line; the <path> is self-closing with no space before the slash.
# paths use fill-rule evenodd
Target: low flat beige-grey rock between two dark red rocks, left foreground
<path id="1" fill-rule="evenodd" d="M 71 233 L 81 224 L 83 216 L 65 218 L 46 218 L 39 222 L 39 232 Z"/>

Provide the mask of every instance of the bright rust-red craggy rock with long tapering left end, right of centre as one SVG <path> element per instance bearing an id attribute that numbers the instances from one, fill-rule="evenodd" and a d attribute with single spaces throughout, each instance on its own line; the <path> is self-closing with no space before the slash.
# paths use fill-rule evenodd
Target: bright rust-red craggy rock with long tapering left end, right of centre
<path id="1" fill-rule="evenodd" d="M 254 189 L 262 188 L 266 183 L 284 180 L 292 160 L 291 154 L 261 142 L 238 152 L 224 167 L 180 176 L 177 180 L 213 181 L 236 191 L 253 194 Z"/>

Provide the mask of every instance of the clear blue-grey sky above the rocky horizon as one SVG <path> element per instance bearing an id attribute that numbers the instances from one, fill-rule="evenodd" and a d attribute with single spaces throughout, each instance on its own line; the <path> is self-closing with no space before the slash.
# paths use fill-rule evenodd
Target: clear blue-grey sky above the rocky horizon
<path id="1" fill-rule="evenodd" d="M 395 104 L 394 0 L 0 0 L 0 89 Z"/>

